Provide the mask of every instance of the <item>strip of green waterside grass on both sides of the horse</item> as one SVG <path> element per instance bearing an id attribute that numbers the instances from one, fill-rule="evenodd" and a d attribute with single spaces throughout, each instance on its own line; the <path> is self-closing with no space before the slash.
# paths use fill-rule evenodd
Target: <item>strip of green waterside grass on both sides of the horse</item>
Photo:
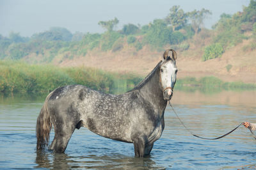
<path id="1" fill-rule="evenodd" d="M 28 65 L 20 61 L 0 61 L 1 93 L 49 93 L 60 86 L 81 84 L 106 93 L 124 93 L 142 80 L 132 74 L 109 73 L 95 68 L 60 68 L 53 65 Z M 223 82 L 216 77 L 178 79 L 175 89 L 204 93 L 220 90 L 255 90 L 256 84 Z"/>

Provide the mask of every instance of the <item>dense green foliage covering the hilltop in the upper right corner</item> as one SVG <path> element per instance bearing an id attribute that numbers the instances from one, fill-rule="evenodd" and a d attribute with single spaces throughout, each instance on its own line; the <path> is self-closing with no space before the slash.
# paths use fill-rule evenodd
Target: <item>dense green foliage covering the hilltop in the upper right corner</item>
<path id="1" fill-rule="evenodd" d="M 244 7 L 243 12 L 237 12 L 234 15 L 223 13 L 220 20 L 212 26 L 215 31 L 213 42 L 205 47 L 203 60 L 220 57 L 221 54 L 244 39 L 254 38 L 253 36 L 244 35 L 248 31 L 252 31 L 253 35 L 256 21 L 256 1 L 251 0 L 249 6 Z M 256 26 L 255 26 L 256 27 Z M 244 50 L 256 49 L 256 43 L 244 47 Z"/>

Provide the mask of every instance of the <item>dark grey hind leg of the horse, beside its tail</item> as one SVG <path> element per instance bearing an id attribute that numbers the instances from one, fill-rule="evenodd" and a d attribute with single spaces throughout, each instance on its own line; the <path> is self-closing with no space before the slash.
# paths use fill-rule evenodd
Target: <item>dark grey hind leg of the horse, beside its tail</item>
<path id="1" fill-rule="evenodd" d="M 54 139 L 49 150 L 53 150 L 55 153 L 64 152 L 75 129 L 75 126 L 66 123 L 58 123 L 58 125 L 54 125 Z"/>

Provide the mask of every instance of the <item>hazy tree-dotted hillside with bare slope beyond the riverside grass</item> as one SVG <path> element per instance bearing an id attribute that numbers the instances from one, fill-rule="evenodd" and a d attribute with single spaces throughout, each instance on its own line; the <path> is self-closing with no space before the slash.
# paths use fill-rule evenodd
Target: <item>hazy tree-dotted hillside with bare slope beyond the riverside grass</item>
<path id="1" fill-rule="evenodd" d="M 211 12 L 184 13 L 173 6 L 165 19 L 145 26 L 126 24 L 113 27 L 118 19 L 100 21 L 102 34 L 75 33 L 53 27 L 30 38 L 19 33 L 0 35 L 0 59 L 58 66 L 88 66 L 111 72 L 146 75 L 160 61 L 165 49 L 178 53 L 179 77 L 214 75 L 224 81 L 256 83 L 256 1 L 243 12 L 223 13 L 221 19 L 204 29 Z"/>

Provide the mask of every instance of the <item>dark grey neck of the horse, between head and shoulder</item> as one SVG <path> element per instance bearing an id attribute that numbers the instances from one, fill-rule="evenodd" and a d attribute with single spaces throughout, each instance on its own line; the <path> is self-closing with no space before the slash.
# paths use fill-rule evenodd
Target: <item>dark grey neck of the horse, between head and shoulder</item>
<path id="1" fill-rule="evenodd" d="M 159 70 L 159 68 L 156 68 L 152 75 L 146 78 L 147 80 L 145 80 L 144 84 L 141 84 L 139 91 L 145 100 L 159 109 L 164 109 L 167 102 L 163 99 Z"/>

